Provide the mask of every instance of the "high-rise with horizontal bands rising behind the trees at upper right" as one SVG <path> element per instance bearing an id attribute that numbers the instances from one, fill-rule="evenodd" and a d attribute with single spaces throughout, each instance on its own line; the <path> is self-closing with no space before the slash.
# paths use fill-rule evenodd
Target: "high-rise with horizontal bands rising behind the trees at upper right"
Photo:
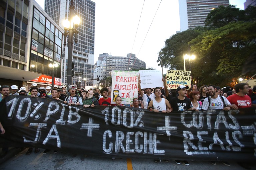
<path id="1" fill-rule="evenodd" d="M 179 0 L 180 31 L 205 26 L 207 15 L 221 5 L 228 6 L 229 0 Z"/>

